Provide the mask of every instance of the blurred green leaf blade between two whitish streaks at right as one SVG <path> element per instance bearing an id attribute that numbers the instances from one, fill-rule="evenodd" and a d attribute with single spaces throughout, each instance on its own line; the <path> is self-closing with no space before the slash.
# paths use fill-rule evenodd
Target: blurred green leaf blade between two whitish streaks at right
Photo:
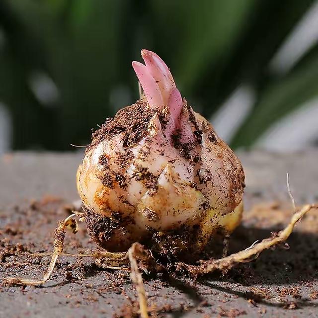
<path id="1" fill-rule="evenodd" d="M 289 74 L 268 83 L 239 129 L 233 147 L 251 146 L 277 120 L 318 96 L 318 48 Z M 299 123 L 302 125 L 303 123 Z"/>

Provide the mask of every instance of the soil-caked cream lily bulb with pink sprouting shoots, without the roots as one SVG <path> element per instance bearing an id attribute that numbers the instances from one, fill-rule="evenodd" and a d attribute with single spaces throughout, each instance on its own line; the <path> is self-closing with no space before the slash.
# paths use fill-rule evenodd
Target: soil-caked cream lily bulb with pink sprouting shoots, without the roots
<path id="1" fill-rule="evenodd" d="M 199 251 L 239 224 L 244 172 L 159 56 L 141 53 L 145 64 L 132 66 L 144 96 L 92 134 L 79 166 L 88 233 L 109 251 L 159 238 Z"/>

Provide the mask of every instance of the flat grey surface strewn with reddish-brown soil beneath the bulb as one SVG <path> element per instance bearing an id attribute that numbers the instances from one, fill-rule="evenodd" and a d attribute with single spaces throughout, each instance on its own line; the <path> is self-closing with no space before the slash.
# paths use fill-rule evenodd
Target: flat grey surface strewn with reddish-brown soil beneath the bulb
<path id="1" fill-rule="evenodd" d="M 0 157 L 0 279 L 41 278 L 58 220 L 78 208 L 76 170 L 82 154 L 14 153 Z M 236 252 L 277 232 L 293 213 L 286 172 L 296 204 L 318 202 L 318 152 L 240 153 L 246 173 L 245 212 L 231 237 Z M 266 250 L 227 274 L 193 281 L 144 274 L 153 317 L 318 317 L 318 212 L 303 218 L 289 249 Z M 213 244 L 212 244 L 213 246 Z M 219 246 L 220 247 L 220 246 Z M 216 248 L 216 256 L 219 248 Z M 80 224 L 67 233 L 65 252 L 97 246 Z M 43 287 L 0 286 L 0 317 L 138 317 L 128 271 L 102 270 L 90 257 L 62 256 Z"/>

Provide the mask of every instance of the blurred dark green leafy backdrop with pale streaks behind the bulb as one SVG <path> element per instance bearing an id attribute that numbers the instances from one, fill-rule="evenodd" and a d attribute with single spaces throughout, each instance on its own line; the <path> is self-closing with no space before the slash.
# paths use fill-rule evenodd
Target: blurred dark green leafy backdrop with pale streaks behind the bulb
<path id="1" fill-rule="evenodd" d="M 87 145 L 142 48 L 235 149 L 318 146 L 317 0 L 1 0 L 0 153 Z"/>

